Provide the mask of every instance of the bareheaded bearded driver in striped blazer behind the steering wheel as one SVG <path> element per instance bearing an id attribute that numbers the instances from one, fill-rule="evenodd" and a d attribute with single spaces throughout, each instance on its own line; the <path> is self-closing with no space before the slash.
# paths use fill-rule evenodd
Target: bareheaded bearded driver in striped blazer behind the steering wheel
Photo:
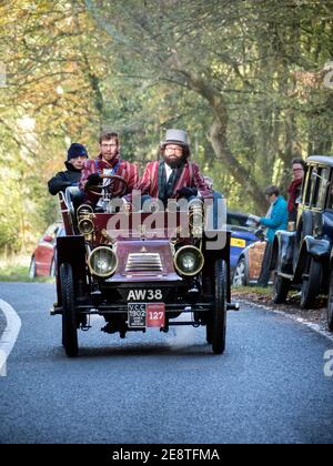
<path id="1" fill-rule="evenodd" d="M 85 191 L 85 202 L 93 207 L 99 201 L 99 196 L 89 191 L 91 186 L 102 185 L 102 174 L 122 176 L 128 188 L 123 195 L 132 192 L 139 181 L 138 168 L 135 164 L 121 160 L 119 134 L 115 131 L 107 131 L 100 135 L 100 154 L 95 160 L 89 160 L 82 170 L 80 189 Z M 113 190 L 117 192 L 121 188 L 121 182 L 113 183 Z"/>

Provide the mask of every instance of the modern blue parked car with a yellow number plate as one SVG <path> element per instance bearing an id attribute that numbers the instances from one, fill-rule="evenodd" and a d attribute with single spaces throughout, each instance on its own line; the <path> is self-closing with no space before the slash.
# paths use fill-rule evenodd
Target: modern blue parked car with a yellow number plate
<path id="1" fill-rule="evenodd" d="M 248 215 L 241 212 L 228 211 L 226 227 L 231 231 L 230 267 L 233 275 L 242 251 L 258 241 L 255 229 L 246 225 Z"/>

